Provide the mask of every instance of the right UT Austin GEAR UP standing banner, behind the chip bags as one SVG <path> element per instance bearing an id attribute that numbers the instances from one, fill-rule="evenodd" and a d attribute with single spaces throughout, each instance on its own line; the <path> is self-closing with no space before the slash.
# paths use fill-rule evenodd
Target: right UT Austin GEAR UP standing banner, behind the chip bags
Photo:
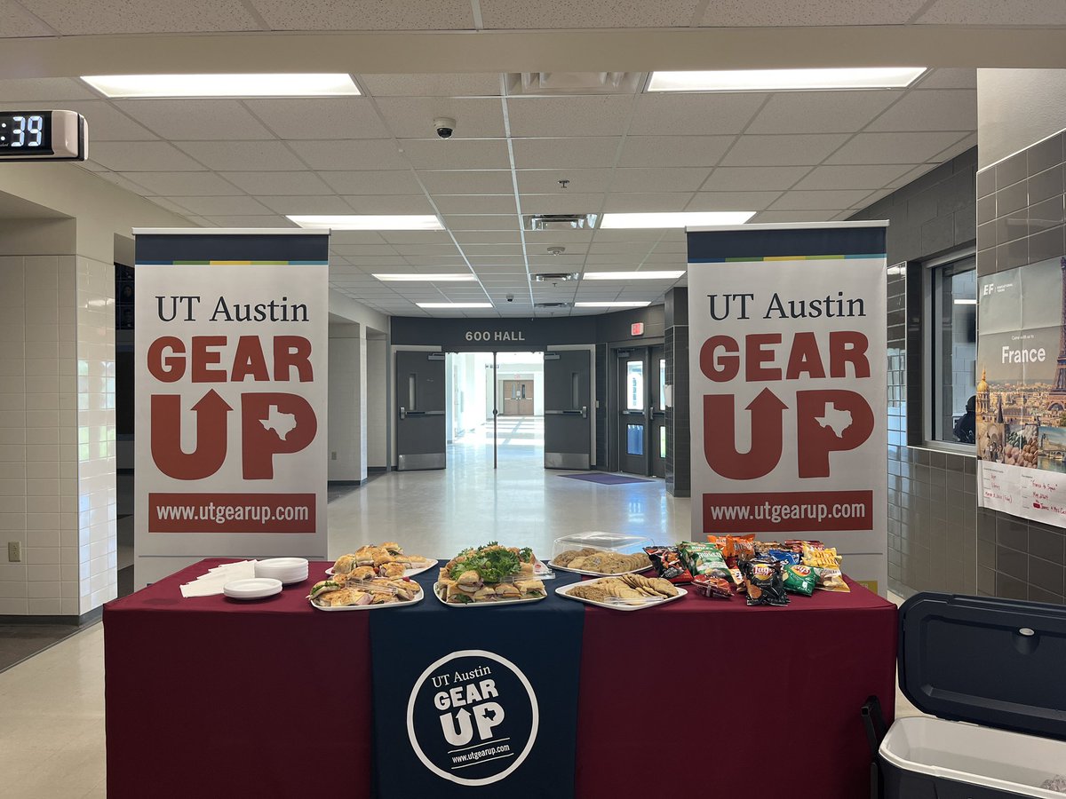
<path id="1" fill-rule="evenodd" d="M 885 223 L 689 231 L 692 532 L 887 588 Z"/>

